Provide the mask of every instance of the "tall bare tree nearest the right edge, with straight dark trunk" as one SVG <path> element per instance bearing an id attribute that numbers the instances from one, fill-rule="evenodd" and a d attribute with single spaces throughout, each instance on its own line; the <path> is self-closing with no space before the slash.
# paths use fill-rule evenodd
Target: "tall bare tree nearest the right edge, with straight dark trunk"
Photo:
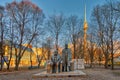
<path id="1" fill-rule="evenodd" d="M 106 22 L 108 24 L 108 30 L 109 30 L 109 39 L 110 39 L 110 53 L 111 53 L 111 69 L 114 69 L 114 59 L 113 59 L 113 55 L 114 55 L 114 41 L 118 40 L 119 35 L 117 35 L 116 33 L 118 32 L 118 23 L 119 23 L 119 18 L 120 18 L 120 14 L 118 13 L 118 11 L 113 10 L 113 7 L 116 6 L 115 4 L 117 3 L 113 3 L 112 1 L 110 1 L 110 3 L 108 4 L 108 9 L 107 11 L 109 12 L 104 14 Z M 118 4 L 118 7 L 120 6 L 120 4 Z"/>

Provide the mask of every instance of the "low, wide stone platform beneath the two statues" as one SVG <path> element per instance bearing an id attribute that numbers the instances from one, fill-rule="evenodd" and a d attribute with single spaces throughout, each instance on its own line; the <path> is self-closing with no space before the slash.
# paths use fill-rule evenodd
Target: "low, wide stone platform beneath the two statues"
<path id="1" fill-rule="evenodd" d="M 44 78 L 68 78 L 68 77 L 86 77 L 86 73 L 82 72 L 81 70 L 76 70 L 76 71 L 70 71 L 70 72 L 61 72 L 61 73 L 54 73 L 50 74 L 47 73 L 46 71 L 43 71 L 41 73 L 34 74 L 32 76 L 32 80 L 41 80 Z M 50 79 L 51 80 L 51 79 Z"/>

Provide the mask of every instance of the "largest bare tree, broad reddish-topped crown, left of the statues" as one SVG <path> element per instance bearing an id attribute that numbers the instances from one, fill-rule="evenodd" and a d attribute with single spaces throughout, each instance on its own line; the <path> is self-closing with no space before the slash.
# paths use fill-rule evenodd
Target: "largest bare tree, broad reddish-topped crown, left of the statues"
<path id="1" fill-rule="evenodd" d="M 38 35 L 37 32 L 43 20 L 43 13 L 39 7 L 29 1 L 14 1 L 7 4 L 6 9 L 13 26 L 15 26 L 14 41 L 18 48 L 18 50 L 15 50 L 15 70 L 18 70 L 25 50 L 35 36 Z M 24 48 L 23 44 L 27 44 L 27 46 Z"/>

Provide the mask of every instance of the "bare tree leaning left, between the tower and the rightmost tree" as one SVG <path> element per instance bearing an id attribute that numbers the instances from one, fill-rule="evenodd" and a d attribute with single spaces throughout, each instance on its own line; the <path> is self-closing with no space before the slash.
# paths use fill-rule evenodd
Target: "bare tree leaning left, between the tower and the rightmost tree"
<path id="1" fill-rule="evenodd" d="M 93 9 L 93 20 L 94 22 L 97 24 L 98 26 L 98 45 L 101 47 L 102 52 L 105 56 L 105 68 L 107 68 L 107 63 L 108 63 L 108 48 L 109 48 L 109 42 L 108 42 L 108 38 L 105 37 L 105 18 L 102 15 L 102 9 L 101 6 L 97 5 L 94 9 Z"/>

